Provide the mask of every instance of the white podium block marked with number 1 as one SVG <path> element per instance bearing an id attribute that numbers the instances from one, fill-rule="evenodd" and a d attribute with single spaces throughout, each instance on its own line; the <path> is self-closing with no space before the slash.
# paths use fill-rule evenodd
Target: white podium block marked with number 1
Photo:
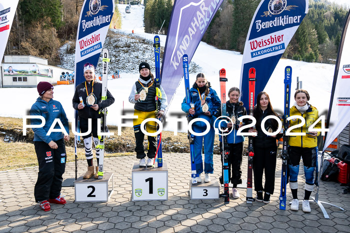
<path id="1" fill-rule="evenodd" d="M 162 167 L 139 167 L 135 162 L 132 167 L 132 201 L 167 200 L 167 165 Z"/>

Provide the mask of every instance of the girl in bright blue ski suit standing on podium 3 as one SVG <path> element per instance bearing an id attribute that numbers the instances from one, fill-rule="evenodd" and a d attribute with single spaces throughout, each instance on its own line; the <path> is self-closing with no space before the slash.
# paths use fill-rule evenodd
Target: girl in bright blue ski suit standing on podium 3
<path id="1" fill-rule="evenodd" d="M 210 83 L 206 80 L 204 73 L 198 73 L 196 80 L 189 90 L 191 98 L 191 104 L 194 104 L 194 109 L 186 103 L 186 97 L 183 99 L 181 109 L 182 111 L 192 114 L 194 118 L 203 118 L 210 122 L 210 118 L 216 113 L 217 108 L 220 107 L 220 99 L 217 96 L 215 90 L 210 87 Z M 196 121 L 192 124 L 194 132 L 204 132 L 206 124 L 203 121 Z M 214 149 L 214 127 L 210 126 L 210 130 L 203 136 L 194 135 L 194 161 L 196 167 L 196 173 L 199 176 L 196 177 L 197 182 L 201 182 L 200 174 L 203 172 L 203 162 L 201 150 L 204 144 L 204 173 L 205 182 L 210 182 L 209 173 L 213 173 L 213 161 L 212 154 Z M 203 143 L 204 139 L 204 143 Z"/>

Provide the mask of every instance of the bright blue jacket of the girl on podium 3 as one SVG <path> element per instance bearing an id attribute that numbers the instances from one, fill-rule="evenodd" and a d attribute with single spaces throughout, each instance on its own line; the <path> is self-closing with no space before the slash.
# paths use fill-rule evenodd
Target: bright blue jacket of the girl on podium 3
<path id="1" fill-rule="evenodd" d="M 220 107 L 221 102 L 219 97 L 216 94 L 216 91 L 213 90 L 211 87 L 209 87 L 209 93 L 205 97 L 205 101 L 207 102 L 209 106 L 209 112 L 210 116 L 204 115 L 203 112 L 200 109 L 201 106 L 201 101 L 199 97 L 199 92 L 196 88 L 191 88 L 189 90 L 189 95 L 191 99 L 191 103 L 194 103 L 194 110 L 195 113 L 193 114 L 193 118 L 204 118 L 210 123 L 211 117 L 216 113 L 217 109 Z M 202 93 L 202 95 L 204 95 Z M 203 98 L 204 99 L 204 98 Z M 186 97 L 184 97 L 182 104 L 181 104 L 181 109 L 182 111 L 188 113 L 190 106 L 186 103 Z M 193 125 L 200 126 L 200 127 L 206 127 L 205 123 L 202 121 L 196 121 L 193 123 Z"/>

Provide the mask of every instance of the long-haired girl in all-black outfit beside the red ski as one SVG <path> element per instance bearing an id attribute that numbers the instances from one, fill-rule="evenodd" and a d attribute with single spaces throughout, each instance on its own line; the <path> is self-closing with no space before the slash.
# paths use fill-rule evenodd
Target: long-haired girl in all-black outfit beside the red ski
<path id="1" fill-rule="evenodd" d="M 278 117 L 278 115 L 273 111 L 268 94 L 261 91 L 257 94 L 256 107 L 254 109 L 256 130 L 249 129 L 249 132 L 257 132 L 257 135 L 253 136 L 254 190 L 256 191 L 256 200 L 263 201 L 264 203 L 269 203 L 270 194 L 273 194 L 277 153 L 276 139 L 279 139 L 282 136 L 281 133 L 274 136 L 268 136 L 262 131 L 261 121 L 268 115 L 275 115 Z M 275 119 L 267 119 L 264 123 L 264 128 L 268 132 L 274 132 L 278 128 L 278 122 Z M 265 172 L 264 187 L 262 187 L 263 172 Z M 262 191 L 265 192 L 263 198 Z"/>

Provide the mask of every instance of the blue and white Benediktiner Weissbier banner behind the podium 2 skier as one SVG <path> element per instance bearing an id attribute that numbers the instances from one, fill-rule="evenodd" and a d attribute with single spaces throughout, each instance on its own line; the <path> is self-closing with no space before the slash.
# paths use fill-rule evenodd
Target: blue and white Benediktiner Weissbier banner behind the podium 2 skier
<path id="1" fill-rule="evenodd" d="M 97 65 L 114 13 L 114 0 L 84 0 L 75 43 L 74 86 L 85 80 L 83 65 Z"/>

